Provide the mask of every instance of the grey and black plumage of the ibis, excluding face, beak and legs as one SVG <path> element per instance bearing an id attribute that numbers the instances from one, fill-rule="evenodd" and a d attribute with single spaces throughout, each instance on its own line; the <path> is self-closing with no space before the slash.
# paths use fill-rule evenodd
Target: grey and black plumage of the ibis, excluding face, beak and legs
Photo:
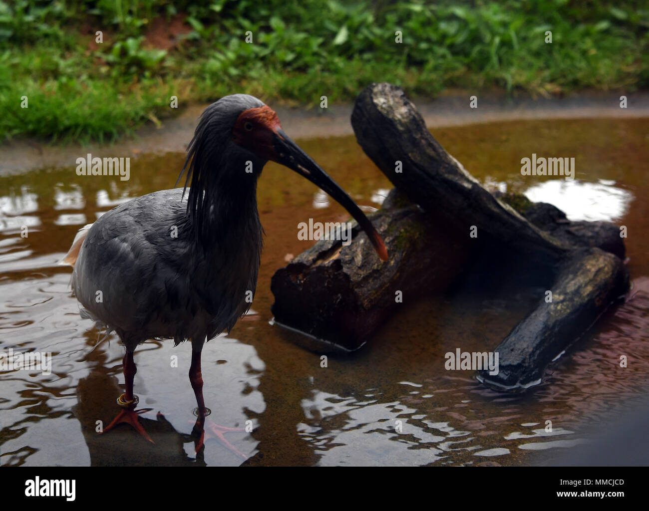
<path id="1" fill-rule="evenodd" d="M 229 332 L 249 309 L 246 292 L 254 294 L 262 250 L 256 182 L 265 160 L 234 144 L 230 131 L 241 112 L 260 106 L 242 94 L 210 105 L 183 167 L 188 191 L 130 200 L 88 231 L 72 289 L 130 350 L 154 337 L 202 343 Z M 254 172 L 245 171 L 247 161 Z"/>

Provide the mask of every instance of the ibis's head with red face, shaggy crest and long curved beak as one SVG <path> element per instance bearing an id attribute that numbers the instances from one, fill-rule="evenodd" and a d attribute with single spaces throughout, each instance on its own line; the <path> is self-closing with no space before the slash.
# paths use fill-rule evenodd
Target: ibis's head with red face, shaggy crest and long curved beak
<path id="1" fill-rule="evenodd" d="M 387 261 L 386 246 L 360 208 L 284 133 L 275 111 L 256 97 L 234 94 L 219 99 L 204 110 L 190 143 L 183 172 L 188 169 L 187 180 L 189 182 L 191 178 L 191 190 L 198 186 L 202 195 L 207 190 L 206 184 L 214 182 L 214 178 L 210 178 L 214 172 L 228 180 L 234 177 L 232 172 L 249 172 L 248 176 L 258 176 L 268 160 L 297 172 L 332 196 L 367 233 L 379 257 Z M 250 166 L 252 172 L 247 171 Z M 228 172 L 223 172 L 224 169 Z M 190 192 L 188 208 L 195 208 L 191 202 Z"/>

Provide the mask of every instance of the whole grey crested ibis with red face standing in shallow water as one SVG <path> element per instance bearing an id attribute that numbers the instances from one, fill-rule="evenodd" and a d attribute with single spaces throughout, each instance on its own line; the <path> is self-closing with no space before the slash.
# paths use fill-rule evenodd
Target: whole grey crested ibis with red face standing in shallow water
<path id="1" fill-rule="evenodd" d="M 150 193 L 118 206 L 86 226 L 65 261 L 84 313 L 116 331 L 126 354 L 122 407 L 105 431 L 121 422 L 153 442 L 138 422 L 133 352 L 151 338 L 191 340 L 190 382 L 198 408 L 194 433 L 204 438 L 201 350 L 228 332 L 249 309 L 257 283 L 262 226 L 256 184 L 273 160 L 318 185 L 358 221 L 383 260 L 386 248 L 354 201 L 282 131 L 271 108 L 236 94 L 208 106 L 182 172 L 190 184 Z M 181 172 L 181 176 L 182 176 Z M 224 440 L 230 428 L 210 423 Z"/>

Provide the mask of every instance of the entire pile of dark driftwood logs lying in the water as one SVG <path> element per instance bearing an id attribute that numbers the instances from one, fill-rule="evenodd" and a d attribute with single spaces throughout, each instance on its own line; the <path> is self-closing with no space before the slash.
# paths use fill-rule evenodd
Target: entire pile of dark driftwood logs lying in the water
<path id="1" fill-rule="evenodd" d="M 353 350 L 389 316 L 396 291 L 410 297 L 444 291 L 471 259 L 513 251 L 545 272 L 555 295 L 496 348 L 504 350 L 502 370 L 489 383 L 520 387 L 538 379 L 628 287 L 617 227 L 569 222 L 554 206 L 524 196 L 491 195 L 435 141 L 400 89 L 366 88 L 352 125 L 363 150 L 398 189 L 372 217 L 390 260 L 381 263 L 361 232 L 349 246 L 319 241 L 273 276 L 280 324 Z M 478 228 L 477 240 L 470 239 L 470 226 Z"/>

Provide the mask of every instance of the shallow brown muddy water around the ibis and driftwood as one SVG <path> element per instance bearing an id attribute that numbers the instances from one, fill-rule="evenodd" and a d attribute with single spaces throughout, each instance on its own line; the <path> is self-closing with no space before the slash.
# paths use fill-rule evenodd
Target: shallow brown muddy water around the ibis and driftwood
<path id="1" fill-rule="evenodd" d="M 514 121 L 434 135 L 491 189 L 529 193 L 573 220 L 627 226 L 631 278 L 639 289 L 649 288 L 649 119 Z M 300 145 L 361 206 L 379 207 L 391 186 L 354 137 Z M 532 153 L 574 156 L 576 179 L 521 176 L 520 159 Z M 147 342 L 135 355 L 135 392 L 140 407 L 151 409 L 141 422 L 156 445 L 127 425 L 99 436 L 97 421 L 106 424 L 118 411 L 123 348 L 115 335 L 101 340 L 103 333 L 80 318 L 69 291 L 71 268 L 56 263 L 84 224 L 123 200 L 173 187 L 183 160 L 181 153 L 139 156 L 125 182 L 77 176 L 72 161 L 0 177 L 0 351 L 52 353 L 49 375 L 0 372 L 1 464 L 533 464 L 539 451 L 580 444 L 611 411 L 646 393 L 645 291 L 611 309 L 526 394 L 499 394 L 469 371 L 445 370 L 445 353 L 495 348 L 537 300 L 533 290 L 506 279 L 416 303 L 406 297 L 402 311 L 360 351 L 331 355 L 323 367 L 321 355 L 271 324 L 270 280 L 313 243 L 297 239 L 299 222 L 349 215 L 271 163 L 258 184 L 266 236 L 254 310 L 230 335 L 210 341 L 202 356 L 210 419 L 253 427 L 225 434 L 247 459 L 214 438 L 195 454 L 188 437 L 195 407 L 187 376 L 191 350 L 171 341 Z M 627 368 L 619 367 L 620 355 L 628 356 Z"/>

